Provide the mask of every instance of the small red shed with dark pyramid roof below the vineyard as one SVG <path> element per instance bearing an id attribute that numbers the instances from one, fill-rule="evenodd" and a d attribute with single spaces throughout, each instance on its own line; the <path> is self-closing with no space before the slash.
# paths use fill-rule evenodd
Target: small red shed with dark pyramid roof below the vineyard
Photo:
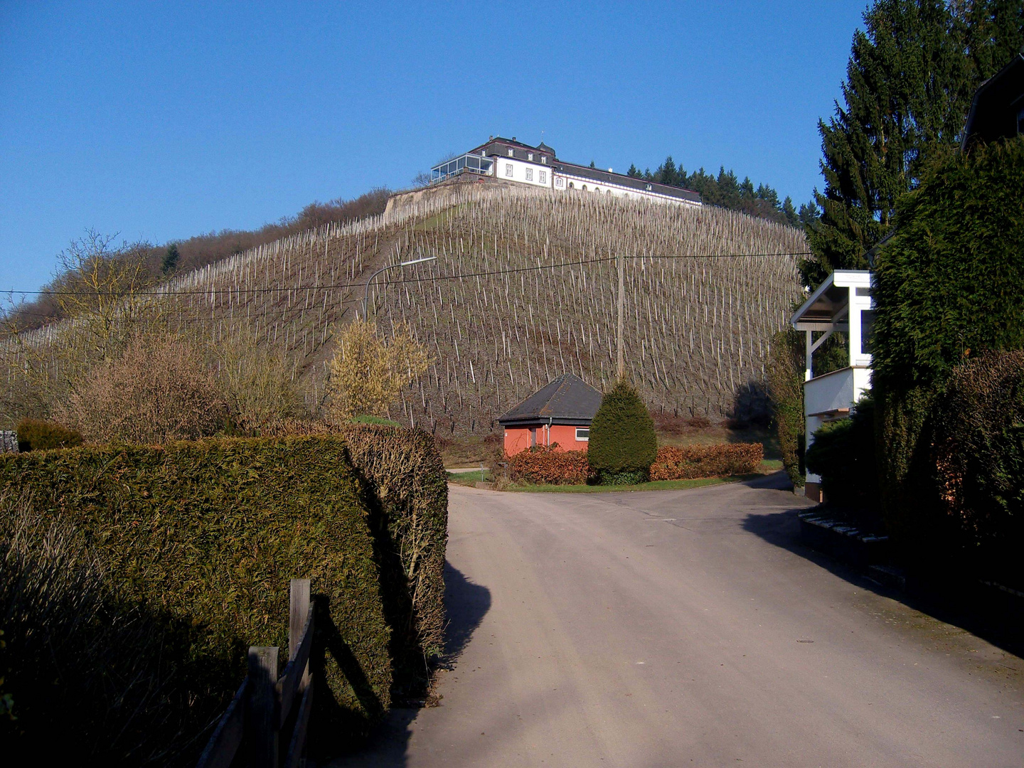
<path id="1" fill-rule="evenodd" d="M 505 427 L 505 453 L 556 443 L 556 451 L 586 451 L 600 406 L 601 393 L 579 376 L 559 376 L 498 420 Z"/>

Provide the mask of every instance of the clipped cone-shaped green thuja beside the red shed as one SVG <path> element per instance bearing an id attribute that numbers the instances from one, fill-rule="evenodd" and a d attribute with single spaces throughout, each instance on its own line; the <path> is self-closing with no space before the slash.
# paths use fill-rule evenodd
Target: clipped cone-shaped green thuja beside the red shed
<path id="1" fill-rule="evenodd" d="M 604 395 L 590 425 L 587 457 L 604 485 L 644 482 L 657 455 L 654 422 L 636 388 L 620 381 Z"/>

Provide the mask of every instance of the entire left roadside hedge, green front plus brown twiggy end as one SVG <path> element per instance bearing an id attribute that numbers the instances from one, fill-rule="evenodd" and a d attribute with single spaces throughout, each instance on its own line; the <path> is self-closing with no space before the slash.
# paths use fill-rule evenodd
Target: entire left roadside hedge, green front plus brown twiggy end
<path id="1" fill-rule="evenodd" d="M 160 695 L 190 701 L 185 726 L 164 734 L 181 763 L 195 759 L 203 729 L 238 688 L 246 648 L 276 645 L 287 655 L 288 586 L 297 577 L 312 580 L 317 611 L 313 751 L 336 753 L 369 732 L 390 703 L 394 635 L 404 633 L 400 648 L 436 642 L 443 623 L 443 478 L 428 436 L 380 427 L 0 460 L 0 488 L 30 490 L 37 508 L 66 517 L 116 599 L 168 628 L 166 663 L 178 668 L 174 690 Z M 419 560 L 399 557 L 395 579 L 389 555 L 411 551 Z M 5 692 L 16 706 L 15 686 Z M 33 713 L 22 717 L 31 730 Z"/>

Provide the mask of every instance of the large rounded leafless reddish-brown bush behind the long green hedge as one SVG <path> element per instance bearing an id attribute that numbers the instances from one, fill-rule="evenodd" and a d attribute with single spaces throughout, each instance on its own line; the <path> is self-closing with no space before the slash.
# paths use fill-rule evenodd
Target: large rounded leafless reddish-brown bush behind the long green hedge
<path id="1" fill-rule="evenodd" d="M 227 403 L 200 349 L 180 336 L 138 336 L 55 409 L 90 442 L 160 443 L 215 434 Z"/>

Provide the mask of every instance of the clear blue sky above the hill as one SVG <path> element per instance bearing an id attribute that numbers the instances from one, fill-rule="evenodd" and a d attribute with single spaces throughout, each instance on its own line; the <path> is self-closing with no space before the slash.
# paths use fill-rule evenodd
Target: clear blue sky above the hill
<path id="1" fill-rule="evenodd" d="M 256 227 L 490 134 L 724 165 L 799 204 L 865 7 L 0 0 L 0 290 L 87 227 Z"/>

